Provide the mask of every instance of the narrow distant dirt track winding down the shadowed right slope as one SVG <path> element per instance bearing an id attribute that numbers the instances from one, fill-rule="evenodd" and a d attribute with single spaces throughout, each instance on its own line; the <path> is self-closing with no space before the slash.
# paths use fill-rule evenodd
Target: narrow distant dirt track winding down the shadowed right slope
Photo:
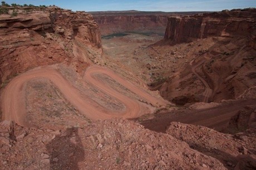
<path id="1" fill-rule="evenodd" d="M 194 62 L 191 61 L 190 65 L 192 65 L 192 63 Z M 195 69 L 199 66 L 201 66 L 201 64 L 203 64 L 204 61 L 200 61 L 198 62 L 195 66 L 192 67 L 192 72 L 195 74 L 196 77 L 198 77 L 200 79 L 200 81 L 204 84 L 205 86 L 205 91 L 204 91 L 204 99 L 202 102 L 208 103 L 209 97 L 211 96 L 211 93 L 213 93 L 213 90 L 210 88 L 209 84 L 198 74 L 196 73 Z"/>

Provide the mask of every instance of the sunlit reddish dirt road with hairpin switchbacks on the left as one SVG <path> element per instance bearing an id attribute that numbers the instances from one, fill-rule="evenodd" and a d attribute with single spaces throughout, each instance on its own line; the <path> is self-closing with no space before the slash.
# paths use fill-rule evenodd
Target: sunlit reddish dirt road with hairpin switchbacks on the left
<path id="1" fill-rule="evenodd" d="M 149 113 L 150 108 L 145 104 L 141 104 L 135 99 L 131 99 L 124 94 L 115 91 L 114 88 L 106 86 L 103 82 L 95 77 L 96 74 L 106 74 L 122 86 L 130 91 L 136 93 L 138 96 L 144 98 L 147 102 L 156 106 L 157 104 L 168 104 L 169 102 L 164 99 L 155 98 L 150 96 L 143 89 L 136 87 L 134 84 L 126 81 L 124 78 L 117 76 L 114 72 L 107 68 L 99 66 L 91 66 L 85 72 L 87 82 L 90 82 L 101 91 L 116 98 L 125 104 L 125 111 L 112 112 L 107 108 L 100 106 L 100 104 L 93 101 L 90 97 L 82 95 L 81 92 L 72 86 L 62 75 L 52 66 L 38 67 L 23 73 L 16 78 L 12 79 L 7 85 L 1 95 L 1 106 L 3 112 L 3 119 L 13 120 L 21 126 L 28 126 L 26 121 L 26 82 L 38 77 L 50 79 L 58 89 L 62 92 L 63 96 L 70 101 L 82 114 L 89 119 L 109 119 L 113 117 L 134 118 L 141 116 L 143 113 Z"/>

